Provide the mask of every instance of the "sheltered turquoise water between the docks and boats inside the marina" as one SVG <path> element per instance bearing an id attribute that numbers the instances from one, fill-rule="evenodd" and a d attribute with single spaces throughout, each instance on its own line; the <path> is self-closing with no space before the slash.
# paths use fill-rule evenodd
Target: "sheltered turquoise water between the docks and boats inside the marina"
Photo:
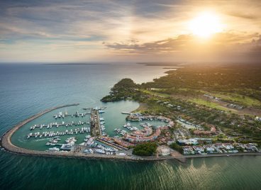
<path id="1" fill-rule="evenodd" d="M 106 132 L 109 136 L 113 137 L 115 135 L 118 135 L 114 132 L 115 128 L 121 128 L 122 130 L 126 130 L 128 131 L 127 128 L 123 128 L 123 125 L 127 122 L 126 121 L 126 115 L 122 114 L 121 112 L 123 111 L 133 111 L 136 108 L 138 108 L 138 103 L 133 102 L 133 101 L 120 101 L 120 102 L 115 102 L 113 104 L 104 104 L 104 106 L 106 106 L 105 109 L 105 113 L 101 113 L 100 117 L 104 118 L 104 121 L 106 122 L 104 124 L 106 130 L 104 132 Z M 29 123 L 26 123 L 26 125 L 23 125 L 22 128 L 18 129 L 16 131 L 16 133 L 14 133 L 11 137 L 11 141 L 14 145 L 18 146 L 18 147 L 25 147 L 27 149 L 31 149 L 31 150 L 48 150 L 48 148 L 50 148 L 50 146 L 45 145 L 45 143 L 48 143 L 50 138 L 48 136 L 43 136 L 42 138 L 40 138 L 38 136 L 38 138 L 27 138 L 28 133 L 37 133 L 39 132 L 40 134 L 44 132 L 50 132 L 50 131 L 54 131 L 55 133 L 57 131 L 59 132 L 65 132 L 65 130 L 73 130 L 76 128 L 84 128 L 84 127 L 90 127 L 90 125 L 88 124 L 89 122 L 89 117 L 90 115 L 87 114 L 86 116 L 79 116 L 77 118 L 75 118 L 74 116 L 72 117 L 71 115 L 76 113 L 76 111 L 79 111 L 79 113 L 84 113 L 84 110 L 82 110 L 82 108 L 85 108 L 84 106 L 82 106 L 82 104 L 80 104 L 79 106 L 70 106 L 67 108 L 60 108 L 60 109 L 56 109 L 54 111 L 50 111 L 49 113 L 46 113 L 43 116 L 40 116 L 39 118 L 36 118 L 33 121 L 30 121 Z M 57 115 L 59 112 L 65 113 L 65 111 L 67 111 L 67 113 L 70 116 L 65 116 L 65 118 L 57 118 L 55 119 L 53 116 Z M 62 125 L 60 127 L 52 127 L 52 128 L 46 128 L 43 127 L 42 129 L 40 128 L 35 128 L 34 130 L 30 130 L 30 127 L 33 125 L 37 125 L 37 124 L 49 124 L 49 123 L 59 123 L 62 124 L 62 121 L 64 121 L 65 123 L 72 123 L 72 121 L 74 123 L 79 123 L 79 121 L 81 122 L 87 122 L 84 123 L 84 125 L 72 125 L 72 126 L 68 126 L 66 127 L 65 125 Z M 135 121 L 128 121 L 129 123 L 131 123 L 133 126 L 142 129 L 142 127 L 139 125 L 142 122 L 135 122 Z M 165 125 L 164 122 L 161 121 L 146 121 L 147 123 L 152 124 L 153 126 L 157 127 L 160 125 Z M 84 143 L 84 137 L 86 135 L 90 135 L 90 133 L 77 133 L 77 134 L 73 134 L 73 135 L 61 135 L 60 136 L 60 142 L 59 143 L 65 143 L 65 140 L 67 138 L 70 137 L 76 137 L 77 138 L 77 145 L 79 145 L 80 143 Z M 59 146 L 57 146 L 59 147 Z"/>

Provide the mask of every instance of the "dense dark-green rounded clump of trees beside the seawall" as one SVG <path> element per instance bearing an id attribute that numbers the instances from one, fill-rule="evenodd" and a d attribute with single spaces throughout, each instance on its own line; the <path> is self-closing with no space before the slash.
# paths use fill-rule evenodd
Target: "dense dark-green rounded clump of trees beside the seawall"
<path id="1" fill-rule="evenodd" d="M 143 143 L 140 145 L 136 145 L 133 148 L 133 155 L 148 157 L 154 155 L 156 151 L 157 151 L 156 143 Z"/>

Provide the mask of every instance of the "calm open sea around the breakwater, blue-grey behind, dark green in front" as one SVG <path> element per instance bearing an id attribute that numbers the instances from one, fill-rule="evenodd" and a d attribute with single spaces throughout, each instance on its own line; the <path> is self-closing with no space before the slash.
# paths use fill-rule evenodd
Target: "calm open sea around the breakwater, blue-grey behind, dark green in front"
<path id="1" fill-rule="evenodd" d="M 102 104 L 123 77 L 135 82 L 162 76 L 142 65 L 0 65 L 0 135 L 43 109 L 78 102 L 107 106 L 108 128 L 124 122 L 121 111 L 138 104 Z M 63 111 L 63 110 L 62 110 Z M 44 120 L 44 119 L 43 119 Z M 41 122 L 39 120 L 38 122 Z M 23 146 L 19 135 L 13 143 Z M 24 146 L 27 144 L 24 143 Z M 32 148 L 42 147 L 29 145 Z M 0 151 L 0 189 L 260 189 L 261 157 L 213 157 L 161 162 L 123 162 L 31 157 Z"/>

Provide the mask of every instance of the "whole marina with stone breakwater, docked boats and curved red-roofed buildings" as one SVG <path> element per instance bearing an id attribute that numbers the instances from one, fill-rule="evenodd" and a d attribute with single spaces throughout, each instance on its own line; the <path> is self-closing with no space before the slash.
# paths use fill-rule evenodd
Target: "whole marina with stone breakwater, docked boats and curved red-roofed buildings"
<path id="1" fill-rule="evenodd" d="M 69 106 L 78 106 L 79 104 L 71 104 Z M 63 108 L 67 106 L 60 106 L 57 108 Z M 129 151 L 130 147 L 143 142 L 153 142 L 160 137 L 162 130 L 168 130 L 172 127 L 173 122 L 169 118 L 163 116 L 145 116 L 140 113 L 131 113 L 127 116 L 127 123 L 123 123 L 118 128 L 113 129 L 114 136 L 107 135 L 106 130 L 106 118 L 100 116 L 99 108 L 91 108 L 89 120 L 84 121 L 68 121 L 69 118 L 62 118 L 61 122 L 56 122 L 55 117 L 51 116 L 48 122 L 49 124 L 36 124 L 30 125 L 23 130 L 27 130 L 28 133 L 25 137 L 26 143 L 39 143 L 43 145 L 44 151 L 28 150 L 23 147 L 17 147 L 11 143 L 11 135 L 21 128 L 26 123 L 34 121 L 35 118 L 45 116 L 48 113 L 57 108 L 51 108 L 43 111 L 28 120 L 23 121 L 10 130 L 1 140 L 1 145 L 6 150 L 11 152 L 29 154 L 29 155 L 53 155 L 53 156 L 68 156 L 68 157 L 97 157 L 97 158 L 113 158 L 124 160 L 165 160 L 165 159 L 177 159 L 180 162 L 185 162 L 186 157 L 215 157 L 231 155 L 231 152 L 223 150 L 222 154 L 205 154 L 200 153 L 201 147 L 195 146 L 196 154 L 180 155 L 174 154 L 165 157 L 138 157 Z M 75 112 L 77 113 L 77 112 Z M 59 113 L 60 114 L 60 113 Z M 77 115 L 77 114 L 76 114 Z M 50 116 L 50 114 L 48 115 Z M 87 116 L 87 115 L 86 115 Z M 84 117 L 84 115 L 83 115 Z M 45 118 L 48 118 L 45 116 Z M 78 117 L 73 117 L 78 118 Z M 138 122 L 137 122 L 138 121 Z M 116 134 L 116 135 L 115 135 Z M 188 148 L 190 151 L 191 147 Z M 198 148 L 199 150 L 197 150 Z M 211 150 L 211 146 L 206 146 Z M 186 149 L 187 151 L 187 149 Z M 192 151 L 191 151 L 192 152 Z M 199 154 L 200 153 L 200 154 Z M 170 154 L 170 153 L 169 153 Z M 260 155 L 260 152 L 233 152 L 234 155 Z"/>

